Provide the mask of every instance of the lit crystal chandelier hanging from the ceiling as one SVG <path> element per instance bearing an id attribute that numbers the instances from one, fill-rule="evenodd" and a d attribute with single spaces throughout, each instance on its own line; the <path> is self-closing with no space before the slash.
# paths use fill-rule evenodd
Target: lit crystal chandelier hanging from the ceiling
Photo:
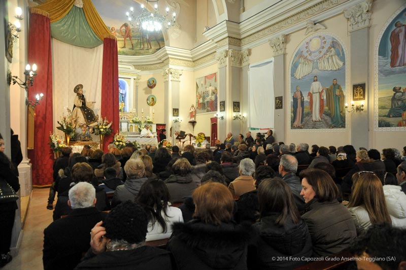
<path id="1" fill-rule="evenodd" d="M 154 12 L 148 11 L 146 6 L 144 4 L 141 4 L 142 11 L 139 16 L 134 15 L 134 9 L 132 7 L 130 8 L 130 12 L 127 12 L 125 14 L 127 15 L 128 21 L 132 25 L 132 27 L 139 28 L 141 26 L 142 30 L 153 32 L 162 30 L 162 27 L 168 29 L 175 24 L 176 19 L 175 12 L 172 13 L 172 19 L 168 20 L 166 17 L 168 16 L 169 8 L 165 9 L 166 14 L 165 16 L 163 16 L 158 12 L 158 0 L 156 1 L 146 0 L 146 5 L 148 5 L 149 2 L 155 3 Z"/>

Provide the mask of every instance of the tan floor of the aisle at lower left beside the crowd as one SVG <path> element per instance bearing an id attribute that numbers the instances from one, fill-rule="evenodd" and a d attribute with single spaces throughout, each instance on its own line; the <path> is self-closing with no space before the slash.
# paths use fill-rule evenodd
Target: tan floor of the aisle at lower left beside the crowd
<path id="1" fill-rule="evenodd" d="M 32 190 L 20 250 L 18 255 L 2 270 L 44 268 L 42 264 L 43 232 L 52 222 L 52 211 L 46 209 L 48 195 L 49 188 L 34 188 Z"/>

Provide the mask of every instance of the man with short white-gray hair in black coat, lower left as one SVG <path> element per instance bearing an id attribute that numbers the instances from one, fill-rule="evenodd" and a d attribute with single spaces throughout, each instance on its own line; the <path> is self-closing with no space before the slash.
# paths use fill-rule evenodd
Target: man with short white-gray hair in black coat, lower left
<path id="1" fill-rule="evenodd" d="M 69 190 L 67 204 L 73 211 L 52 222 L 44 230 L 44 269 L 73 269 L 90 248 L 90 230 L 107 213 L 95 208 L 96 191 L 92 184 L 77 183 Z"/>

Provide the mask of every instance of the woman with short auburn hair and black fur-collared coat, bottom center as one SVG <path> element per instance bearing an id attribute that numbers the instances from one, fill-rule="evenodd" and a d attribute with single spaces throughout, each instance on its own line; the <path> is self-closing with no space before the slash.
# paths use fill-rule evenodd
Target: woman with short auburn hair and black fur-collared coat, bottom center
<path id="1" fill-rule="evenodd" d="M 247 269 L 251 228 L 231 220 L 231 192 L 223 184 L 209 181 L 198 187 L 192 197 L 195 219 L 175 223 L 167 244 L 178 269 Z"/>

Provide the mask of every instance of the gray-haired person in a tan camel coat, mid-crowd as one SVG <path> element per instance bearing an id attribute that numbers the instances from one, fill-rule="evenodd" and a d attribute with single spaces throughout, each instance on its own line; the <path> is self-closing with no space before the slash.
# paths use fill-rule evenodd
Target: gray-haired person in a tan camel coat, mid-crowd
<path id="1" fill-rule="evenodd" d="M 251 158 L 244 158 L 240 162 L 240 176 L 228 185 L 228 189 L 234 197 L 240 197 L 246 192 L 255 189 L 255 181 L 252 175 L 255 173 L 255 164 Z"/>

